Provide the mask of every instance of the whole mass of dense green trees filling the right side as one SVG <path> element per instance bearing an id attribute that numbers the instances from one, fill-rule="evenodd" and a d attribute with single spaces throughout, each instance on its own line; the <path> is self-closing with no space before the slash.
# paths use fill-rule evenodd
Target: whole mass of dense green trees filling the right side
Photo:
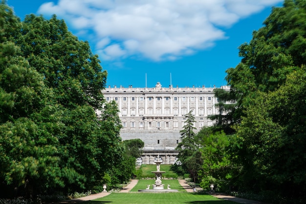
<path id="1" fill-rule="evenodd" d="M 196 136 L 198 180 L 305 203 L 306 0 L 273 8 L 239 49 L 240 63 L 226 71 L 231 91 L 216 89 L 217 123 Z"/>

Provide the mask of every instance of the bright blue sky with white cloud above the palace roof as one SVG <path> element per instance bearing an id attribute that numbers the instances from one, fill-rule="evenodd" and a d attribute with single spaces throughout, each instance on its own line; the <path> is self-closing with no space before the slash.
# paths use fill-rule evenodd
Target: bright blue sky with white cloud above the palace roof
<path id="1" fill-rule="evenodd" d="M 56 14 L 88 41 L 107 86 L 226 85 L 238 47 L 283 0 L 7 0 L 22 20 Z"/>

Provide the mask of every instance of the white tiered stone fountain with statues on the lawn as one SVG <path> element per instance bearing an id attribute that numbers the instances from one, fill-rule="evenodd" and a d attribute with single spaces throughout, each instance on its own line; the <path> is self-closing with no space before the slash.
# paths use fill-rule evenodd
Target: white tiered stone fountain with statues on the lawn
<path id="1" fill-rule="evenodd" d="M 168 184 L 167 189 L 164 189 L 164 184 L 162 184 L 161 178 L 162 174 L 166 173 L 166 171 L 160 171 L 160 164 L 162 163 L 162 160 L 159 157 L 159 154 L 157 155 L 157 159 L 154 161 L 156 163 L 156 171 L 151 171 L 155 174 L 156 180 L 155 183 L 152 185 L 153 189 L 150 189 L 150 185 L 147 185 L 146 189 L 140 189 L 139 192 L 178 192 L 176 189 L 171 189 L 170 185 Z"/>

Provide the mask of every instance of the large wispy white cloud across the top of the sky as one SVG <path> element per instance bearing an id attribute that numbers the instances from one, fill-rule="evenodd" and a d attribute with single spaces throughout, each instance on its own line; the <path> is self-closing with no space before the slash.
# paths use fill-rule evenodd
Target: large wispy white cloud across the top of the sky
<path id="1" fill-rule="evenodd" d="M 38 13 L 64 18 L 91 33 L 104 60 L 132 55 L 174 60 L 226 39 L 220 26 L 283 0 L 59 0 Z M 91 41 L 91 40 L 90 40 Z"/>

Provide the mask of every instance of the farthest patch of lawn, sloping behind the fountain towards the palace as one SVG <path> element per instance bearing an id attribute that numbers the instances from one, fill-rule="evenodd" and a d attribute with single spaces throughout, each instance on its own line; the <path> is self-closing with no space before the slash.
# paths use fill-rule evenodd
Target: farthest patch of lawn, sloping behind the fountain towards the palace
<path id="1" fill-rule="evenodd" d="M 163 177 L 167 178 L 177 178 L 177 174 L 173 171 L 171 171 L 171 166 L 168 164 L 160 164 L 160 171 L 165 171 L 166 173 L 163 173 Z M 152 171 L 156 171 L 156 165 L 155 164 L 142 164 L 141 165 L 142 170 L 142 176 L 145 177 L 154 177 L 155 175 L 151 173 Z"/>

